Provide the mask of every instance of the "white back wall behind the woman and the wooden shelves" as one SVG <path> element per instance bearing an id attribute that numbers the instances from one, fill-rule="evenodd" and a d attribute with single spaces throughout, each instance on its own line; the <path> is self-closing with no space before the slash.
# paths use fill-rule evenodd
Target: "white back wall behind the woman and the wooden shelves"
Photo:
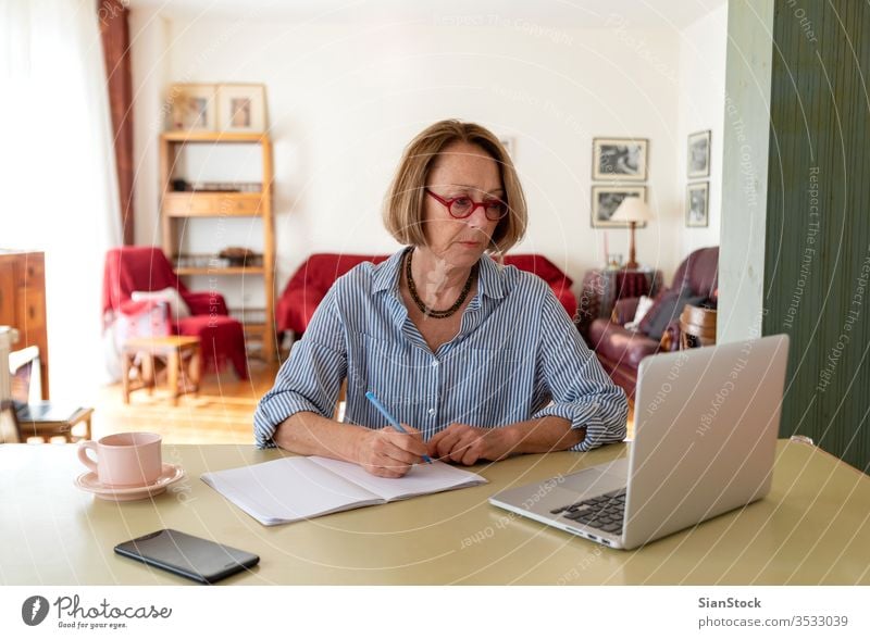
<path id="1" fill-rule="evenodd" d="M 716 30 L 717 21 L 696 23 L 689 47 L 680 32 L 630 29 L 619 17 L 608 28 L 535 29 L 438 17 L 360 26 L 256 15 L 163 21 L 134 9 L 137 242 L 160 242 L 154 123 L 169 85 L 263 83 L 274 141 L 278 292 L 312 252 L 397 249 L 381 224 L 382 198 L 402 147 L 444 117 L 514 137 L 531 215 L 514 252 L 544 253 L 575 290 L 583 273 L 604 262 L 602 234 L 589 224 L 592 139 L 648 138 L 648 199 L 659 218 L 638 229 L 637 256 L 670 278 L 686 246 L 705 233 L 683 228 L 686 133 L 711 127 L 713 152 L 721 150 L 714 95 L 699 102 L 693 89 L 689 101 L 680 90 L 681 78 L 703 75 L 683 58 L 697 57 L 696 38 Z M 724 28 L 714 34 L 722 47 Z M 724 76 L 723 48 L 721 58 Z M 706 233 L 713 231 L 718 209 Z M 244 245 L 257 228 L 248 223 L 232 233 L 226 243 Z M 610 252 L 627 256 L 627 230 L 610 229 L 608 240 Z"/>

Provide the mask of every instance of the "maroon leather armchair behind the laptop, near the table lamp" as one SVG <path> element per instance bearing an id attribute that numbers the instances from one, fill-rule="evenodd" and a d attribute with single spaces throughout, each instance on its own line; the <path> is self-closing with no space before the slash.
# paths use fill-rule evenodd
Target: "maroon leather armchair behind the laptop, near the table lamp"
<path id="1" fill-rule="evenodd" d="M 619 300 L 611 318 L 592 323 L 589 347 L 610 378 L 634 399 L 641 360 L 659 352 L 662 343 L 676 350 L 683 308 L 687 303 L 716 308 L 718 293 L 719 247 L 698 249 L 680 264 L 673 284 L 659 292 L 637 330 L 629 330 L 623 324 L 634 318 L 638 298 Z"/>

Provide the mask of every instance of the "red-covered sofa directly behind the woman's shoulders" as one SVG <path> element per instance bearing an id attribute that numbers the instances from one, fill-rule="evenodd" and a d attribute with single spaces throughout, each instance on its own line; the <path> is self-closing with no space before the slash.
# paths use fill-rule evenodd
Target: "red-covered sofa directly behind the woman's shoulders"
<path id="1" fill-rule="evenodd" d="M 341 275 L 362 262 L 378 264 L 389 255 L 347 255 L 314 253 L 290 277 L 275 305 L 275 325 L 278 333 L 293 330 L 300 336 L 311 322 L 314 311 L 326 291 Z M 570 317 L 577 310 L 577 300 L 571 292 L 571 278 L 543 255 L 506 255 L 505 264 L 529 271 L 546 281 Z"/>

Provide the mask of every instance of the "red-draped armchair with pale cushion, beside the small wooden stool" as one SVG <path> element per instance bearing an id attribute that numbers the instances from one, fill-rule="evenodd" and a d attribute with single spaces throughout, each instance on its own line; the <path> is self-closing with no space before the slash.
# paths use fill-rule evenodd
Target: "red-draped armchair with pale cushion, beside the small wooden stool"
<path id="1" fill-rule="evenodd" d="M 105 254 L 102 299 L 103 315 L 135 317 L 153 314 L 152 302 L 134 302 L 133 291 L 158 291 L 172 288 L 190 309 L 190 316 L 170 313 L 170 330 L 176 335 L 199 337 L 207 369 L 221 369 L 232 362 L 240 379 L 248 378 L 245 331 L 241 323 L 229 316 L 223 296 L 211 291 L 190 291 L 178 279 L 163 251 L 156 247 L 121 247 Z"/>

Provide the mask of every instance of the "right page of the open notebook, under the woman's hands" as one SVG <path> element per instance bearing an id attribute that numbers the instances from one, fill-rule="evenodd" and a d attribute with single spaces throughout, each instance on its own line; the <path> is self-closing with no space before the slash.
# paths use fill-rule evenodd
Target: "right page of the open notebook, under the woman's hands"
<path id="1" fill-rule="evenodd" d="M 434 461 L 431 464 L 418 464 L 413 466 L 405 477 L 398 479 L 388 477 L 376 477 L 362 466 L 349 462 L 339 462 L 326 458 L 311 456 L 312 462 L 328 468 L 336 475 L 346 477 L 350 481 L 362 486 L 366 490 L 382 497 L 385 501 L 406 499 L 417 494 L 430 494 L 455 488 L 465 488 L 467 486 L 477 486 L 486 484 L 486 479 L 474 473 L 462 471 Z"/>

